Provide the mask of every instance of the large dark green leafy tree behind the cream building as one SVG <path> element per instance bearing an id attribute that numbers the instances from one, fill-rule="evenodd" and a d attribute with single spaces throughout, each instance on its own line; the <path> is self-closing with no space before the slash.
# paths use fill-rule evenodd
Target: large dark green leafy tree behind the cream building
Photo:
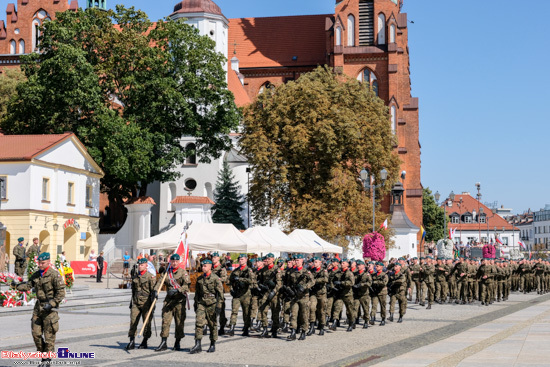
<path id="1" fill-rule="evenodd" d="M 113 26 L 116 24 L 116 26 Z M 40 54 L 22 57 L 7 133 L 73 131 L 105 171 L 117 203 L 177 178 L 180 144 L 194 136 L 201 162 L 230 147 L 239 112 L 215 43 L 181 21 L 152 23 L 134 8 L 87 9 L 46 22 Z"/>

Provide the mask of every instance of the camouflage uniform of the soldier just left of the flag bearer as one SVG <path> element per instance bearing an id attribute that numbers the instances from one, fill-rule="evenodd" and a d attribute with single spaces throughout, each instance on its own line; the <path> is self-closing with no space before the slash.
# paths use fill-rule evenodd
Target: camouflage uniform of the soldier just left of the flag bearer
<path id="1" fill-rule="evenodd" d="M 145 322 L 145 317 L 149 312 L 152 304 L 152 294 L 155 290 L 155 277 L 147 270 L 132 279 L 132 303 L 130 312 L 130 330 L 128 336 L 133 339 L 136 335 L 137 326 L 139 324 L 140 316 Z M 154 312 L 154 310 L 153 310 Z M 149 339 L 151 337 L 151 316 L 149 321 L 145 325 L 143 337 Z"/>

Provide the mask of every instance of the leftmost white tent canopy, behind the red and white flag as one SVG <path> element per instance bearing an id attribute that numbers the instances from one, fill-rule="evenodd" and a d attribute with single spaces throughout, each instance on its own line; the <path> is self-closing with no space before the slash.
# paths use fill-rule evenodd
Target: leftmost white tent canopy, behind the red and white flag
<path id="1" fill-rule="evenodd" d="M 175 250 L 183 232 L 184 223 L 168 231 L 137 242 L 138 250 Z M 256 252 L 257 245 L 232 224 L 193 223 L 187 230 L 187 241 L 192 251 Z"/>

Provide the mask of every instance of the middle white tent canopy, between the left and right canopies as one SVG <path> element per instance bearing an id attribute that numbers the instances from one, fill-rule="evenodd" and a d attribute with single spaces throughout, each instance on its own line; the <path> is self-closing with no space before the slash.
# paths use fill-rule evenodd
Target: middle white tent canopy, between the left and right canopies
<path id="1" fill-rule="evenodd" d="M 244 235 L 258 244 L 262 250 L 256 252 L 312 252 L 311 246 L 295 241 L 278 228 L 254 227 L 244 231 Z M 249 251 L 253 252 L 253 251 Z"/>

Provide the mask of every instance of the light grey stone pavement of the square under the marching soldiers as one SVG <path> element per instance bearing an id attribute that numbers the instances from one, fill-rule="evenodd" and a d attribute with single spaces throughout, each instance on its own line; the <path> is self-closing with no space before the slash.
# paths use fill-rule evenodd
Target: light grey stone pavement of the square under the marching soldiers
<path id="1" fill-rule="evenodd" d="M 116 291 L 120 293 L 113 295 Z M 160 336 L 155 336 L 154 332 L 148 350 L 125 351 L 129 292 L 116 291 L 87 291 L 88 298 L 82 296 L 79 304 L 69 296 L 69 301 L 60 311 L 56 347 L 68 347 L 71 352 L 95 352 L 94 360 L 83 360 L 81 365 L 101 366 L 550 365 L 546 362 L 546 356 L 550 355 L 550 294 L 513 293 L 509 301 L 489 307 L 479 303 L 435 304 L 431 310 L 426 310 L 411 304 L 402 324 L 388 322 L 386 326 L 377 324 L 366 330 L 359 327 L 351 333 L 346 332 L 343 325 L 336 332 L 329 331 L 324 336 L 314 335 L 305 341 L 294 342 L 286 341 L 285 334 L 276 340 L 262 340 L 257 337 L 258 333 L 253 333 L 250 338 L 241 337 L 239 316 L 239 333 L 234 337 L 220 337 L 215 354 L 190 355 L 188 351 L 194 344 L 195 321 L 192 307 L 185 323 L 183 351 L 154 352 L 160 343 Z M 108 297 L 113 297 L 114 301 L 106 302 Z M 34 350 L 29 325 L 31 313 L 30 309 L 0 312 L 0 350 Z M 158 333 L 160 313 L 160 308 L 157 308 Z M 229 310 L 226 313 L 229 314 Z M 136 342 L 139 343 L 139 339 Z M 168 342 L 173 345 L 173 326 Z M 203 344 L 208 346 L 208 343 L 208 337 L 205 337 Z M 0 364 L 14 365 L 11 360 L 0 360 Z"/>

